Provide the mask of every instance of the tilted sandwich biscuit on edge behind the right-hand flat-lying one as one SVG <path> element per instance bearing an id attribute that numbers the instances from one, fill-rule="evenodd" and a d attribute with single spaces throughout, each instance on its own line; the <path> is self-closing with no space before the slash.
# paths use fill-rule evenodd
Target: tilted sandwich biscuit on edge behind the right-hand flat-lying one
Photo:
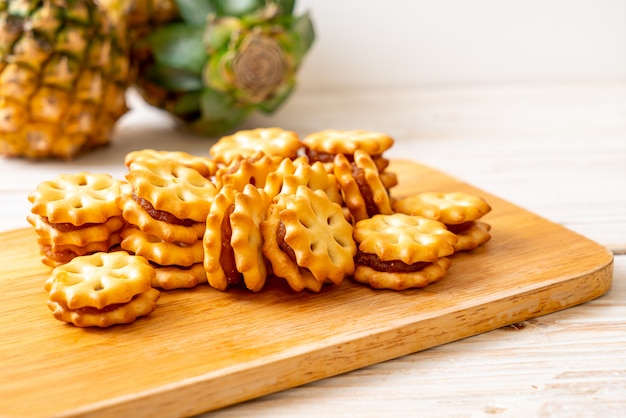
<path id="1" fill-rule="evenodd" d="M 392 213 L 389 193 L 367 153 L 355 151 L 353 163 L 343 154 L 337 154 L 334 161 L 334 173 L 343 200 L 356 221 Z"/>

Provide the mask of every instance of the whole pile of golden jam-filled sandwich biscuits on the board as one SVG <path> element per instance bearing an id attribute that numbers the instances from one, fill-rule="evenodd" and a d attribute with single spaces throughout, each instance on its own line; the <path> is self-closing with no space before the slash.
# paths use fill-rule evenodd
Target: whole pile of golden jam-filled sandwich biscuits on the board
<path id="1" fill-rule="evenodd" d="M 115 294 L 114 285 L 90 283 L 90 304 L 76 304 L 67 296 L 76 283 L 63 278 L 73 263 L 102 268 L 102 257 L 115 253 L 124 254 L 121 264 L 150 268 L 153 294 L 203 283 L 259 292 L 270 279 L 311 292 L 346 278 L 393 290 L 440 280 L 450 255 L 490 239 L 479 219 L 491 208 L 461 192 L 392 199 L 398 180 L 384 153 L 393 142 L 364 130 L 300 139 L 259 128 L 222 137 L 206 157 L 133 151 L 123 180 L 81 173 L 43 182 L 29 196 L 29 221 L 42 261 L 54 267 L 50 309 L 77 326 L 129 322 L 133 314 L 94 317 L 144 300 L 146 289 L 111 298 L 110 309 L 97 294 Z M 148 305 L 129 310 L 146 315 Z"/>

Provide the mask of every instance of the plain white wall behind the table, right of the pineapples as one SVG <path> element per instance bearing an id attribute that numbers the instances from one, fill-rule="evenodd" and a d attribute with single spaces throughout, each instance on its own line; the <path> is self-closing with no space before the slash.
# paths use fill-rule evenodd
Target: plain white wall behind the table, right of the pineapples
<path id="1" fill-rule="evenodd" d="M 626 80 L 626 0 L 298 0 L 301 88 Z"/>

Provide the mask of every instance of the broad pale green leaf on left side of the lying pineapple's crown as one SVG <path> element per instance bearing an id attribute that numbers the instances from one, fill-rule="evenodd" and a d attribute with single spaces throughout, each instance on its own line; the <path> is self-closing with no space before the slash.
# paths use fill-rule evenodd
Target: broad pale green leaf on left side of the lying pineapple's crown
<path id="1" fill-rule="evenodd" d="M 202 42 L 203 28 L 175 23 L 150 35 L 149 43 L 157 65 L 200 75 L 207 59 Z"/>

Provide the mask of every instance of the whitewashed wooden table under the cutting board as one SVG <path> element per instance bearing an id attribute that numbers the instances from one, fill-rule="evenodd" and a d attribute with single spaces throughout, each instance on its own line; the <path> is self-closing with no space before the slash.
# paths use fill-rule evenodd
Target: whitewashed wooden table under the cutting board
<path id="1" fill-rule="evenodd" d="M 122 176 L 133 149 L 206 155 L 131 95 L 111 147 L 74 162 L 0 160 L 0 231 L 61 172 Z M 245 127 L 382 131 L 389 153 L 524 207 L 615 254 L 594 301 L 214 412 L 211 416 L 615 416 L 626 407 L 626 84 L 299 91 Z M 567 243 L 563 243 L 567 257 Z M 1 413 L 1 411 L 0 411 Z"/>

